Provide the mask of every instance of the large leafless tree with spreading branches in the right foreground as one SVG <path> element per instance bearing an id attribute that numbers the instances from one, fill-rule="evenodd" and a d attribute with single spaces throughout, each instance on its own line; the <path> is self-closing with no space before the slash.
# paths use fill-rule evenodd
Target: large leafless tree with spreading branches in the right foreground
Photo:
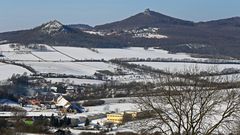
<path id="1" fill-rule="evenodd" d="M 231 130 L 237 119 L 240 91 L 234 78 L 199 76 L 198 69 L 159 77 L 155 89 L 144 87 L 137 102 L 151 118 L 145 130 L 161 134 L 210 135 Z"/>

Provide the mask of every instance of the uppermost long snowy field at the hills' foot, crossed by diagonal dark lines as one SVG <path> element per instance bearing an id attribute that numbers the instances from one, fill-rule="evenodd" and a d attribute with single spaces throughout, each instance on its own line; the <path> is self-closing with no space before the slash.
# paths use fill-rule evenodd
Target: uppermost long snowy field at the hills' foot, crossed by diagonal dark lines
<path id="1" fill-rule="evenodd" d="M 33 45 L 34 46 L 34 45 Z M 40 46 L 40 47 L 39 47 Z M 115 59 L 115 58 L 172 58 L 172 59 L 196 59 L 187 54 L 170 54 L 162 49 L 149 48 L 145 50 L 141 47 L 130 48 L 93 48 L 92 51 L 87 48 L 80 47 L 59 47 L 54 48 L 48 45 L 39 44 L 37 47 L 44 48 L 32 49 L 23 45 L 3 44 L 0 45 L 0 52 L 5 56 L 5 59 L 10 60 L 45 60 L 45 61 L 71 61 L 71 57 L 79 60 L 86 59 Z M 60 53 L 60 52 L 62 53 Z M 66 55 L 64 55 L 66 54 Z M 71 56 L 71 57 L 68 57 Z"/>

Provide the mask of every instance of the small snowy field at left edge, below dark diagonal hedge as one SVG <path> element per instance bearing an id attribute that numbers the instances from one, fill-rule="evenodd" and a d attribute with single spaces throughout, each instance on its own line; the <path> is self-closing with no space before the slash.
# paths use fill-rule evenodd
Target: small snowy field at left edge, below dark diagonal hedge
<path id="1" fill-rule="evenodd" d="M 23 74 L 25 72 L 28 74 L 31 73 L 27 69 L 19 66 L 0 63 L 0 80 L 6 80 L 12 77 L 13 74 Z"/>

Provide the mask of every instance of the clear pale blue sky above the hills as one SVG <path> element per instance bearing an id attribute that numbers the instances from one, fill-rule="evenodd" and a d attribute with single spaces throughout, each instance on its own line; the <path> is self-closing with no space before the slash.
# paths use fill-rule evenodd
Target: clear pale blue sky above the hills
<path id="1" fill-rule="evenodd" d="M 240 16 L 240 0 L 0 0 L 0 32 L 33 28 L 54 19 L 94 26 L 146 8 L 190 21 Z"/>

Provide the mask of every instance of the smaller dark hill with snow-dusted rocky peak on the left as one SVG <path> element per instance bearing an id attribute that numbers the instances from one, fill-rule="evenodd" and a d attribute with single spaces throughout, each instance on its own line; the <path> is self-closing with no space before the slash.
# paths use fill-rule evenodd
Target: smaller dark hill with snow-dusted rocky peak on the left
<path id="1" fill-rule="evenodd" d="M 54 20 L 30 30 L 0 33 L 0 40 L 22 44 L 42 43 L 55 46 L 124 47 L 122 42 L 63 25 Z"/>

